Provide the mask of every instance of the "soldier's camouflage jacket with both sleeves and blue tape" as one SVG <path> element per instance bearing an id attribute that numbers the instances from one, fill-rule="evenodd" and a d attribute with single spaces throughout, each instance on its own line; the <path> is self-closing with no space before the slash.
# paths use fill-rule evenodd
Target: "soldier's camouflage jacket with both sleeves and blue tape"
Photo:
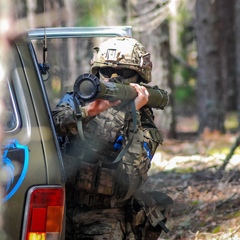
<path id="1" fill-rule="evenodd" d="M 90 119 L 82 119 L 86 139 L 82 141 L 78 135 L 73 104 L 70 101 L 61 101 L 53 110 L 56 131 L 60 139 L 64 138 L 63 152 L 72 159 L 78 159 L 79 164 L 74 168 L 84 169 L 82 172 L 80 170 L 80 175 L 84 177 L 79 188 L 96 192 L 96 186 L 94 187 L 91 181 L 98 182 L 97 193 L 124 200 L 131 197 L 145 182 L 151 159 L 163 139 L 153 122 L 151 109 L 141 108 L 136 111 L 136 118 L 137 127 L 134 129 L 130 107 L 124 106 L 110 108 Z M 121 161 L 111 164 L 131 138 L 132 144 Z M 89 167 L 89 164 L 92 167 Z M 90 170 L 93 168 L 94 170 Z M 91 176 L 87 171 L 92 171 Z M 101 175 L 98 180 L 93 177 L 97 174 Z M 101 191 L 101 187 L 105 190 Z"/>

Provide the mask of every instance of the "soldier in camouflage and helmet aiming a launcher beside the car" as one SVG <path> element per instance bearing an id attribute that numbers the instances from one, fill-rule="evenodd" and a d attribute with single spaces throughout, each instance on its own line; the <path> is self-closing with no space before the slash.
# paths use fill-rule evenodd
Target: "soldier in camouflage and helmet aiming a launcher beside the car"
<path id="1" fill-rule="evenodd" d="M 157 239 L 172 199 L 145 192 L 152 157 L 163 139 L 146 107 L 150 54 L 137 40 L 111 38 L 94 48 L 90 73 L 101 81 L 129 83 L 137 92 L 126 104 L 97 99 L 80 106 L 79 133 L 73 93 L 53 111 L 66 171 L 66 239 Z M 81 138 L 84 135 L 84 138 Z"/>

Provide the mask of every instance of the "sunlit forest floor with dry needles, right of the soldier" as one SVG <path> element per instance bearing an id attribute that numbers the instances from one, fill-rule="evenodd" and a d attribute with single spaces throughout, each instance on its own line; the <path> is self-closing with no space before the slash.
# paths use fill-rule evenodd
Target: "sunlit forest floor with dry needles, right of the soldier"
<path id="1" fill-rule="evenodd" d="M 169 233 L 159 239 L 240 239 L 240 147 L 218 171 L 236 134 L 190 134 L 194 119 L 184 118 L 184 140 L 165 139 L 153 159 L 145 187 L 168 194 L 174 205 Z"/>

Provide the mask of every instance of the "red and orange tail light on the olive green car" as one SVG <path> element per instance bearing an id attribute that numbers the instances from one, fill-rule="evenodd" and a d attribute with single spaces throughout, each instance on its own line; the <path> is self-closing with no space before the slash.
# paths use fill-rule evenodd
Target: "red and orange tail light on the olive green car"
<path id="1" fill-rule="evenodd" d="M 61 239 L 65 204 L 63 187 L 31 188 L 25 210 L 24 240 Z"/>

